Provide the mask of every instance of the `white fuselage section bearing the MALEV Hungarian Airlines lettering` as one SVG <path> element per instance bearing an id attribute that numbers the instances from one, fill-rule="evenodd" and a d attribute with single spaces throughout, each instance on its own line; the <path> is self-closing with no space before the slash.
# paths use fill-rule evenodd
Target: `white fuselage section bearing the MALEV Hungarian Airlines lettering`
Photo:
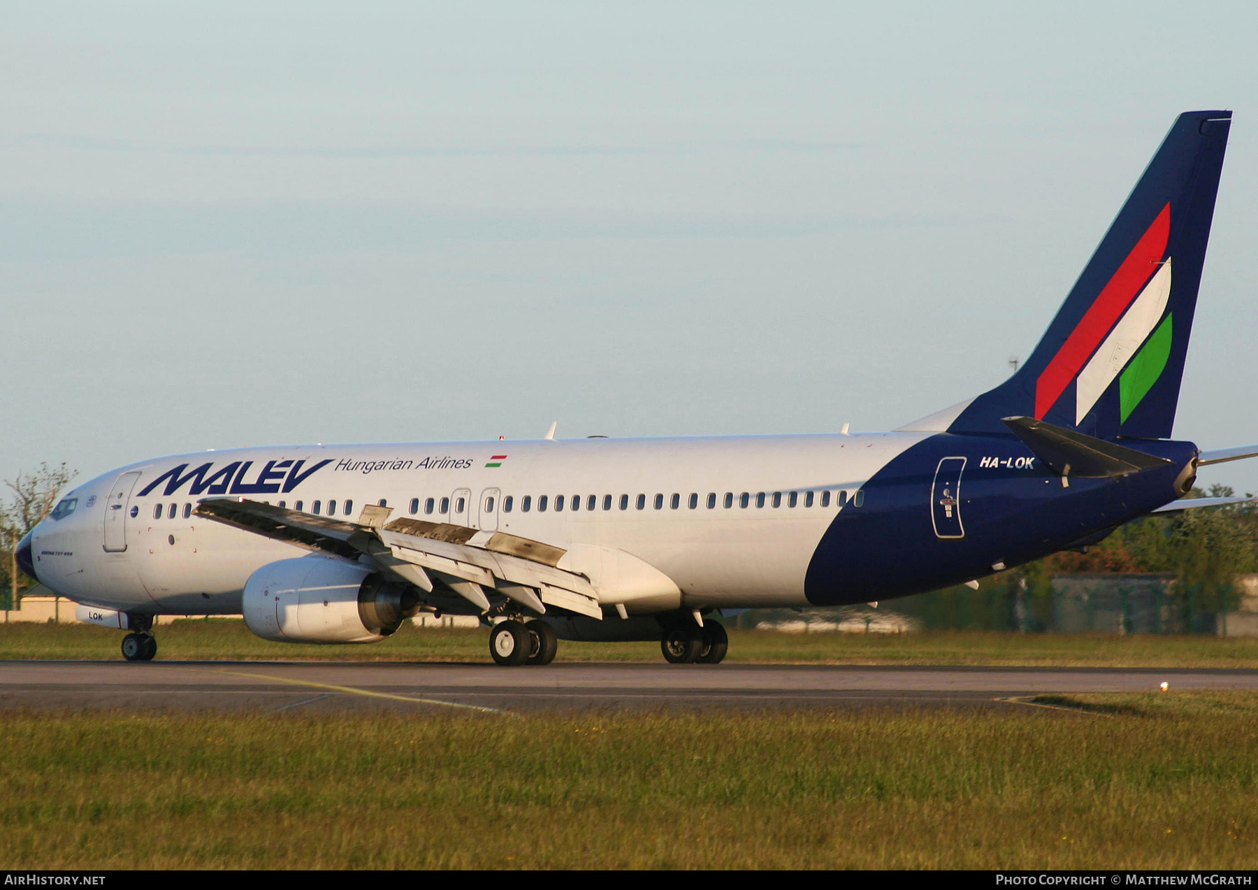
<path id="1" fill-rule="evenodd" d="M 594 574 L 604 569 L 609 590 L 615 559 L 628 554 L 623 559 L 667 575 L 689 608 L 805 606 L 809 561 L 838 511 L 858 510 L 854 495 L 863 482 L 927 436 L 589 438 L 182 454 L 78 486 L 69 492 L 74 510 L 36 527 L 31 554 L 40 582 L 81 603 L 229 614 L 240 611 L 253 572 L 307 551 L 198 517 L 191 511 L 199 500 L 239 495 L 323 516 L 335 510 L 348 521 L 364 505 L 382 502 L 394 519 L 509 531 L 564 548 L 574 560 L 595 560 Z M 640 608 L 629 606 L 655 608 L 649 597 Z"/>

